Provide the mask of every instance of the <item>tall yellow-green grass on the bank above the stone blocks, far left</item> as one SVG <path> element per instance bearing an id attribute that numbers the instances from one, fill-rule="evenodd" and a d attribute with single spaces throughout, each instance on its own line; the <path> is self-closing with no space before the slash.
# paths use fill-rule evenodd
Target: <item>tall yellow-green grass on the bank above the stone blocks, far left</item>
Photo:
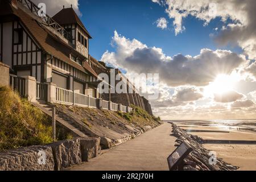
<path id="1" fill-rule="evenodd" d="M 0 150 L 53 142 L 51 119 L 10 88 L 0 86 Z"/>

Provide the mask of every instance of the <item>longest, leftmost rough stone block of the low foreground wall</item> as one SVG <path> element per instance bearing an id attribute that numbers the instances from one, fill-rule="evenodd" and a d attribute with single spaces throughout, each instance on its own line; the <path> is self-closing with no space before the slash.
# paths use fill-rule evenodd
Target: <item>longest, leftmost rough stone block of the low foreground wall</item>
<path id="1" fill-rule="evenodd" d="M 53 171 L 52 148 L 31 146 L 0 153 L 0 171 Z"/>

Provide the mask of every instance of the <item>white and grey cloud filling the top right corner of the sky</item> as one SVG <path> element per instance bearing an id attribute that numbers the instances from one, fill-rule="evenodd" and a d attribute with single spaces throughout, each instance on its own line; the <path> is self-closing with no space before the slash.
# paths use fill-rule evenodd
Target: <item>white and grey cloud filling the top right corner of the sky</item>
<path id="1" fill-rule="evenodd" d="M 154 2 L 154 1 L 153 1 Z M 249 59 L 256 59 L 256 1 L 255 0 L 162 0 L 166 13 L 173 19 L 175 34 L 185 27 L 183 19 L 188 15 L 204 20 L 204 25 L 221 18 L 225 23 L 216 41 L 222 45 L 235 43 L 240 46 Z M 228 22 L 227 20 L 230 19 Z"/>

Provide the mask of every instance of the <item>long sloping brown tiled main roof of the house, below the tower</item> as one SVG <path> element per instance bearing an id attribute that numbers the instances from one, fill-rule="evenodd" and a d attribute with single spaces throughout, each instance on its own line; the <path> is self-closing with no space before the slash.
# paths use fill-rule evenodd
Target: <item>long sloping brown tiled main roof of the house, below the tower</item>
<path id="1" fill-rule="evenodd" d="M 6 4 L 5 6 L 1 7 L 3 7 L 3 9 L 9 10 L 9 12 L 6 12 L 6 14 L 13 13 L 14 15 L 18 16 L 18 18 L 26 27 L 27 31 L 30 32 L 32 38 L 48 54 L 56 57 L 61 61 L 64 61 L 69 65 L 72 65 L 72 67 L 77 68 L 82 72 L 89 72 L 93 76 L 98 77 L 97 73 L 90 67 L 90 65 L 86 61 L 84 61 L 84 67 L 72 61 L 69 57 L 69 54 L 71 52 L 76 52 L 76 50 L 63 42 L 63 40 L 61 40 L 57 35 L 53 34 L 47 28 L 45 28 L 42 24 L 40 24 L 40 22 L 32 18 L 31 15 L 28 15 L 20 8 L 13 9 L 10 4 L 9 7 L 6 7 Z M 2 11 L 2 8 L 0 8 L 0 11 Z"/>

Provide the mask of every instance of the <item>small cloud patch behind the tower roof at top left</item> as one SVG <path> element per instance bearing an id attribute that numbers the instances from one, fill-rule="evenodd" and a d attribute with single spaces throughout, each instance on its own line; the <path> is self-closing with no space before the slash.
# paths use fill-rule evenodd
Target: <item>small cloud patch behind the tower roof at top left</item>
<path id="1" fill-rule="evenodd" d="M 49 16 L 53 16 L 58 13 L 61 9 L 63 9 L 63 6 L 71 7 L 71 5 L 79 16 L 82 15 L 79 10 L 79 0 L 32 0 L 32 2 L 34 2 L 36 5 L 42 2 L 46 3 L 46 14 L 48 14 Z"/>

